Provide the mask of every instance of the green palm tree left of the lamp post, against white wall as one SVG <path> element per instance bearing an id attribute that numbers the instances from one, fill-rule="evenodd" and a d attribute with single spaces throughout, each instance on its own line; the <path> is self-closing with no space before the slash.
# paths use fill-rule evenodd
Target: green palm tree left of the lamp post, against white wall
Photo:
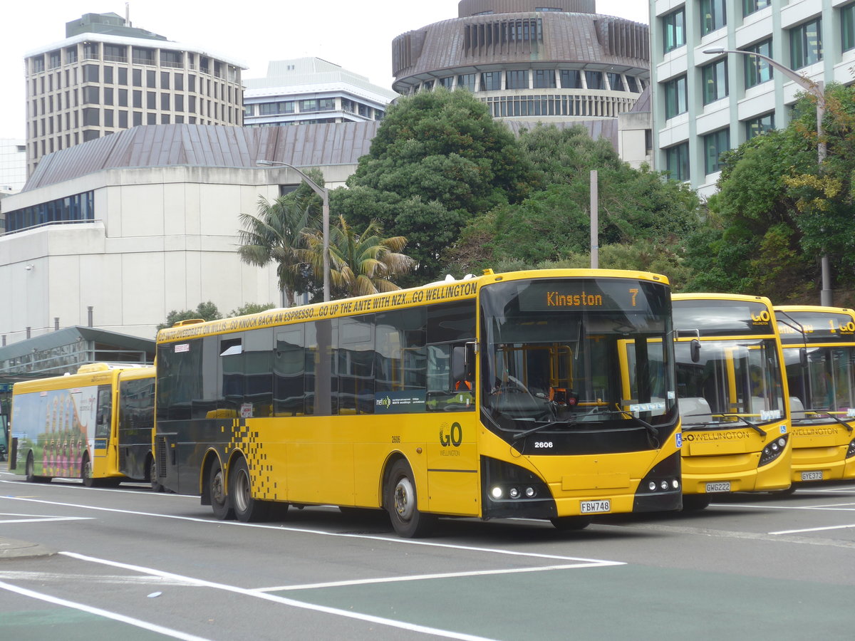
<path id="1" fill-rule="evenodd" d="M 289 307 L 294 295 L 310 288 L 310 264 L 306 238 L 319 227 L 316 206 L 310 199 L 280 196 L 270 203 L 258 198 L 257 215 L 241 214 L 238 255 L 250 265 L 264 267 L 276 262 L 279 286 Z"/>

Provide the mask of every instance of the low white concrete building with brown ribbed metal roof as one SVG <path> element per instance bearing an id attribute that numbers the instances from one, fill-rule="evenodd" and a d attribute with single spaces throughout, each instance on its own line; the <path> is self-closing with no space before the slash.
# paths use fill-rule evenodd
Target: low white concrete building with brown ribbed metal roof
<path id="1" fill-rule="evenodd" d="M 239 214 L 300 182 L 344 185 L 379 123 L 140 126 L 45 156 L 0 201 L 3 343 L 88 326 L 153 338 L 172 310 L 282 304 L 273 266 L 240 262 Z M 56 321 L 56 319 L 59 319 Z"/>

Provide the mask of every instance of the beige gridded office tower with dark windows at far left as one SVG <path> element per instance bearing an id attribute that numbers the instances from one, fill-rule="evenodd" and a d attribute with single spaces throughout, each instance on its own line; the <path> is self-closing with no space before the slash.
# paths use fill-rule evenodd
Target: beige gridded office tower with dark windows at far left
<path id="1" fill-rule="evenodd" d="M 39 159 L 132 126 L 241 125 L 245 65 L 85 14 L 66 38 L 32 50 L 27 69 L 27 173 Z"/>

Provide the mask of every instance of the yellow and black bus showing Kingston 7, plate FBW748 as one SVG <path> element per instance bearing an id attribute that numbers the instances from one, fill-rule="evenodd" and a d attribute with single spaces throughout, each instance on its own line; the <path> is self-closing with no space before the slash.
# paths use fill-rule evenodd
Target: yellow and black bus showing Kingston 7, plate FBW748
<path id="1" fill-rule="evenodd" d="M 668 280 L 610 270 L 185 323 L 157 336 L 158 481 L 221 519 L 386 509 L 404 537 L 680 509 L 670 332 Z"/>

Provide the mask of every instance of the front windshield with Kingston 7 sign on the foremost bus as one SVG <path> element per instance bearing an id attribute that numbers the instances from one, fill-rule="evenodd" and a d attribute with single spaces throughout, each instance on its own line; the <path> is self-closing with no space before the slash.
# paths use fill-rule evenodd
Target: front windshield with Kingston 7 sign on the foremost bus
<path id="1" fill-rule="evenodd" d="M 673 425 L 666 285 L 602 278 L 486 285 L 481 326 L 482 408 L 494 431 Z"/>

